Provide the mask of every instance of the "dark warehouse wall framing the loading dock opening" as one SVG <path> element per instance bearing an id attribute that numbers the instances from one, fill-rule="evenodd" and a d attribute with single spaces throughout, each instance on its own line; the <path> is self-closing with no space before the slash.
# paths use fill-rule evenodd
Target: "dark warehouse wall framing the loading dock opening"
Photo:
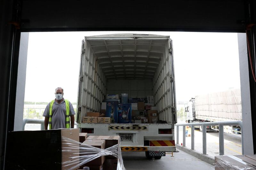
<path id="1" fill-rule="evenodd" d="M 125 3 L 125 4 L 124 4 Z M 0 167 L 6 136 L 14 130 L 20 32 L 33 31 L 203 31 L 244 33 L 247 26 L 255 62 L 255 0 L 0 1 Z M 254 26 L 253 26 L 254 24 Z M 247 60 L 248 62 L 248 60 Z M 255 63 L 254 63 L 255 68 Z M 256 111 L 256 86 L 249 72 L 251 111 Z M 256 116 L 252 114 L 256 153 Z M 246 140 L 247 141 L 247 140 Z M 246 142 L 245 141 L 245 142 Z"/>

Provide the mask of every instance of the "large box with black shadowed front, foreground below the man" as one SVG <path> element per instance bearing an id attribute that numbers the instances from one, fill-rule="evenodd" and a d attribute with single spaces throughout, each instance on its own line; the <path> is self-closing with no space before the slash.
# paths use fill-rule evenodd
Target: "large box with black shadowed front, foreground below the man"
<path id="1" fill-rule="evenodd" d="M 73 153 L 79 153 L 79 148 L 75 147 L 71 149 L 72 152 L 62 151 L 62 148 L 68 147 L 67 142 L 61 139 L 62 136 L 78 142 L 79 129 L 8 132 L 5 169 L 68 169 L 76 166 L 62 164 L 74 160 L 70 158 L 74 156 Z"/>

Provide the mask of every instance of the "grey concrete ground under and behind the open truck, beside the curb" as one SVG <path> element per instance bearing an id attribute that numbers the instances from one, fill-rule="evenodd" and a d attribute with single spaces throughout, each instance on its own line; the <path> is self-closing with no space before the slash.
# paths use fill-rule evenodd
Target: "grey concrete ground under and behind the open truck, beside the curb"
<path id="1" fill-rule="evenodd" d="M 179 150 L 180 151 L 180 150 Z M 213 165 L 210 165 L 201 159 L 189 155 L 186 152 L 174 152 L 172 154 L 166 154 L 161 159 L 148 160 L 145 157 L 145 152 L 122 152 L 124 159 L 124 167 L 126 170 L 205 170 L 214 169 Z"/>

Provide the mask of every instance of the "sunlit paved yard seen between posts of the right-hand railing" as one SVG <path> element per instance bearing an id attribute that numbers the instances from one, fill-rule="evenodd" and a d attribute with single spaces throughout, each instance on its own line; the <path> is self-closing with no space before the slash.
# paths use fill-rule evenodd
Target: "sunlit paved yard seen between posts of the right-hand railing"
<path id="1" fill-rule="evenodd" d="M 179 143 L 183 143 L 183 130 L 179 128 Z M 177 138 L 175 127 L 175 140 Z M 176 141 L 175 141 L 176 142 Z M 208 131 L 206 133 L 207 154 L 217 156 L 219 154 L 219 132 Z M 191 149 L 191 137 L 186 137 L 186 147 Z M 195 129 L 195 150 L 203 153 L 203 133 Z M 241 135 L 224 132 L 224 153 L 225 155 L 242 155 Z"/>

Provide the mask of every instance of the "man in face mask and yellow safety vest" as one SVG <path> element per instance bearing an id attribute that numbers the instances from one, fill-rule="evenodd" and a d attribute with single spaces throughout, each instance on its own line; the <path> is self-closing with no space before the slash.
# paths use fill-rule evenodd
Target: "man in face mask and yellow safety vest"
<path id="1" fill-rule="evenodd" d="M 55 89 L 55 99 L 44 110 L 44 129 L 74 128 L 75 111 L 72 104 L 63 98 L 63 89 Z M 71 124 L 70 124 L 71 122 Z"/>

